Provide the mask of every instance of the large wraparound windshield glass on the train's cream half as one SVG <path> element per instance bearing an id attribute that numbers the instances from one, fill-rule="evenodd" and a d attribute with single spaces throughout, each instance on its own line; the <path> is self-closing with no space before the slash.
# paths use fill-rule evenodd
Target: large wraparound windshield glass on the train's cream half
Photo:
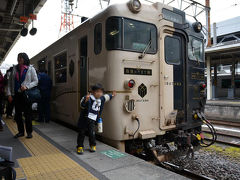
<path id="1" fill-rule="evenodd" d="M 134 52 L 157 52 L 157 28 L 153 24 L 110 17 L 106 22 L 106 47 Z"/>

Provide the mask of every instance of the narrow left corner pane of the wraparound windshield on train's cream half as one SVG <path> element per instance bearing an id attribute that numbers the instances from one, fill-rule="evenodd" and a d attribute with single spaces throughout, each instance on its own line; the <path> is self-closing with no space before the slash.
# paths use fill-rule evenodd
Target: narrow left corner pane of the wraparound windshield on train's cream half
<path id="1" fill-rule="evenodd" d="M 122 48 L 122 18 L 110 17 L 106 22 L 107 50 Z"/>

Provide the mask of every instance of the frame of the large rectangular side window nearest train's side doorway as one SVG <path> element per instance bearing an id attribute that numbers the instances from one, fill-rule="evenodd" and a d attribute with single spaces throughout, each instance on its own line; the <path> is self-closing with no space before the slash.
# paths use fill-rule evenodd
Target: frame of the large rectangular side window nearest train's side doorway
<path id="1" fill-rule="evenodd" d="M 56 58 L 57 57 L 59 57 L 59 56 L 61 56 L 61 55 L 63 55 L 63 54 L 66 54 L 65 56 L 66 56 L 66 58 L 65 58 L 65 66 L 63 66 L 63 67 L 57 67 L 56 66 Z M 67 79 L 68 79 L 68 64 L 67 64 L 67 62 L 68 62 L 68 54 L 67 54 L 67 51 L 66 50 L 64 50 L 64 51 L 62 51 L 62 52 L 59 52 L 58 54 L 56 54 L 56 55 L 54 55 L 53 56 L 53 59 L 54 59 L 54 82 L 55 82 L 55 84 L 65 84 L 65 83 L 67 83 Z M 57 78 L 56 78 L 56 73 L 57 72 L 61 72 L 61 71 L 66 71 L 66 72 L 64 72 L 64 74 L 66 74 L 65 76 L 66 76 L 66 78 L 64 79 L 64 81 L 57 81 Z"/>

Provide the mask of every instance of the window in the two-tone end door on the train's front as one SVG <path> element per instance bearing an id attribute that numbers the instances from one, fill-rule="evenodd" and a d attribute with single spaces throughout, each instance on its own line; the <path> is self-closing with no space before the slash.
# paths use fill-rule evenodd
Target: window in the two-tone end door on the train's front
<path id="1" fill-rule="evenodd" d="M 181 63 L 181 42 L 176 36 L 166 36 L 164 41 L 165 61 L 168 64 L 179 65 Z"/>

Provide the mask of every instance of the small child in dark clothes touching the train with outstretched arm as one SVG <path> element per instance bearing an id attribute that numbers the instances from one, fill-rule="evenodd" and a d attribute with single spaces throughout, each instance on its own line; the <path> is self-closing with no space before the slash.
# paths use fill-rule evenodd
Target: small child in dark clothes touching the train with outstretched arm
<path id="1" fill-rule="evenodd" d="M 90 151 L 96 151 L 96 138 L 95 138 L 95 123 L 100 118 L 104 103 L 111 100 L 116 95 L 116 91 L 113 94 L 104 94 L 101 84 L 92 86 L 91 94 L 84 96 L 81 99 L 80 106 L 82 108 L 79 120 L 78 120 L 78 138 L 77 138 L 77 153 L 83 154 L 83 143 L 85 133 L 89 133 L 89 145 Z"/>

